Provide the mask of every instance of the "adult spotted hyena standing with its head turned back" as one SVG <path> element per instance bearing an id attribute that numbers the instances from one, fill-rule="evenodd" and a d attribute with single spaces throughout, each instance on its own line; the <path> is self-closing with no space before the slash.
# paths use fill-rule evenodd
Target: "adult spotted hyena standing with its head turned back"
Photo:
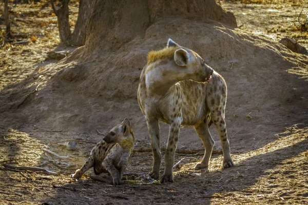
<path id="1" fill-rule="evenodd" d="M 159 178 L 161 165 L 159 120 L 169 125 L 165 152 L 165 172 L 161 182 L 174 181 L 174 163 L 180 126 L 194 126 L 205 147 L 201 163 L 195 169 L 208 167 L 214 147 L 208 125 L 213 122 L 223 149 L 223 168 L 234 166 L 230 155 L 225 124 L 227 87 L 221 75 L 204 63 L 194 51 L 171 39 L 167 47 L 148 53 L 138 88 L 138 103 L 146 118 L 153 152 L 150 176 Z"/>

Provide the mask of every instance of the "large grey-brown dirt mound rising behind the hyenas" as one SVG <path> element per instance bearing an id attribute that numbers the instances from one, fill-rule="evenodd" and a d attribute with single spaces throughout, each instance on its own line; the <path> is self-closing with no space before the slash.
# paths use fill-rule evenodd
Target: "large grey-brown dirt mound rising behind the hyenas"
<path id="1" fill-rule="evenodd" d="M 198 4 L 178 11 L 182 16 L 174 15 L 176 9 L 165 9 L 165 16 L 159 9 L 148 11 L 144 9 L 147 5 L 136 5 L 141 16 L 133 16 L 128 23 L 126 17 L 132 15 L 129 5 L 124 6 L 125 10 L 114 10 L 119 5 L 105 5 L 109 13 L 95 11 L 85 47 L 58 64 L 36 69 L 18 85 L 6 87 L 1 92 L 2 124 L 22 129 L 35 124 L 52 130 L 94 133 L 97 129 L 108 131 L 128 117 L 136 137 L 147 137 L 137 102 L 139 76 L 147 52 L 164 47 L 169 37 L 199 53 L 225 78 L 226 124 L 232 151 L 259 148 L 274 140 L 273 135 L 285 127 L 307 124 L 307 81 L 287 72 L 305 68 L 306 56 L 292 53 L 265 37 L 232 29 L 235 21 L 227 22 L 231 14 L 220 7 L 221 12 L 209 18 Z M 196 16 L 190 14 L 192 10 Z M 111 14 L 118 17 L 100 22 Z M 123 24 L 134 26 L 122 27 Z M 216 131 L 211 129 L 217 141 Z M 164 144 L 164 124 L 161 136 Z M 193 129 L 183 128 L 178 147 L 201 148 L 202 144 Z"/>

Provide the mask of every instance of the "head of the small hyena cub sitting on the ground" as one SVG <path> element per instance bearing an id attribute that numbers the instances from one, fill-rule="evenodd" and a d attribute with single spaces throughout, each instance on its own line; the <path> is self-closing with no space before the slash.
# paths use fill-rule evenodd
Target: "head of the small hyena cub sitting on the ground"
<path id="1" fill-rule="evenodd" d="M 106 136 L 103 137 L 106 143 L 118 143 L 121 147 L 128 149 L 134 146 L 134 134 L 130 127 L 130 121 L 125 118 L 120 125 L 113 127 Z"/>

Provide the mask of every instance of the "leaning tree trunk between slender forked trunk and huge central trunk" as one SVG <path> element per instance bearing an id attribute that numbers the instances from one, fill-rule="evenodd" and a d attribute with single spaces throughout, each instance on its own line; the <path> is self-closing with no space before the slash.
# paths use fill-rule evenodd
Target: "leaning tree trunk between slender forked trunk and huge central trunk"
<path id="1" fill-rule="evenodd" d="M 78 18 L 74 31 L 71 35 L 70 44 L 73 46 L 83 46 L 86 42 L 86 31 L 92 10 L 92 1 L 80 0 Z"/>

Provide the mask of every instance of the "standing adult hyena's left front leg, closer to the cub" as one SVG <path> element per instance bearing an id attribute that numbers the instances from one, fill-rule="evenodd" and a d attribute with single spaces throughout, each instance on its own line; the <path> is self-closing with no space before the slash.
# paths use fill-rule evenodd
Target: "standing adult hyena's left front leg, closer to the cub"
<path id="1" fill-rule="evenodd" d="M 151 138 L 152 153 L 153 153 L 153 168 L 149 173 L 150 177 L 159 179 L 159 171 L 162 160 L 160 148 L 160 129 L 158 119 L 147 120 L 147 126 Z"/>

